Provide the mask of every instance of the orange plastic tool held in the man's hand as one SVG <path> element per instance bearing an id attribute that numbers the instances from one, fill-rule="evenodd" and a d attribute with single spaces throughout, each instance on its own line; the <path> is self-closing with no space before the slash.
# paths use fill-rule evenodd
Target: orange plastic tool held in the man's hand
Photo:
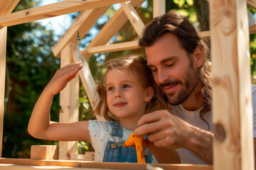
<path id="1" fill-rule="evenodd" d="M 124 142 L 124 145 L 126 147 L 132 147 L 133 145 L 135 145 L 138 163 L 146 163 L 142 143 L 143 143 L 143 136 L 137 137 L 136 135 L 134 135 L 134 132 L 132 132 L 132 134 L 129 135 L 129 139 Z"/>

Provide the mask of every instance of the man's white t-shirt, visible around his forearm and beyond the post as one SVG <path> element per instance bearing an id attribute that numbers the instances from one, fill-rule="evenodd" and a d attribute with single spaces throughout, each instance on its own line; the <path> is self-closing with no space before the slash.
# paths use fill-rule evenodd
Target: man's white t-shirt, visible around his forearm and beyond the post
<path id="1" fill-rule="evenodd" d="M 194 125 L 198 128 L 201 128 L 203 130 L 208 130 L 210 132 L 213 132 L 215 125 L 213 124 L 212 119 L 212 113 L 209 111 L 205 115 L 205 119 L 208 121 L 210 125 L 210 129 L 208 128 L 208 125 L 200 119 L 200 111 L 187 111 L 183 106 L 171 106 L 172 110 L 171 113 L 176 115 L 178 118 L 181 118 L 182 120 L 185 120 L 187 123 L 190 123 L 191 125 Z M 253 137 L 256 137 L 256 86 L 252 85 L 252 109 L 253 109 Z M 200 157 L 198 157 L 196 154 L 191 152 L 188 149 L 185 148 L 178 148 L 176 149 L 176 152 L 178 152 L 178 155 L 181 157 L 181 163 L 182 164 L 208 164 L 207 162 L 203 161 Z"/>

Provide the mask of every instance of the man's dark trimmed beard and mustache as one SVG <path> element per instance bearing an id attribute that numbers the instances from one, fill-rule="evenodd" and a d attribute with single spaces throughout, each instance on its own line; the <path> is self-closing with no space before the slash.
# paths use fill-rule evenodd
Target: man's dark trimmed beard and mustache
<path id="1" fill-rule="evenodd" d="M 196 89 L 196 86 L 199 82 L 198 74 L 193 67 L 191 69 L 188 69 L 188 72 L 186 74 L 186 77 L 184 79 L 184 83 L 181 80 L 174 79 L 174 80 L 169 80 L 166 81 L 164 84 L 159 84 L 160 88 L 162 91 L 164 91 L 165 86 L 173 86 L 173 85 L 178 85 L 181 84 L 182 88 L 181 91 L 179 92 L 178 96 L 176 98 L 172 98 L 174 96 L 174 93 L 171 94 L 165 94 L 166 97 L 168 98 L 168 101 L 171 105 L 176 106 L 184 101 L 191 95 L 194 89 Z"/>

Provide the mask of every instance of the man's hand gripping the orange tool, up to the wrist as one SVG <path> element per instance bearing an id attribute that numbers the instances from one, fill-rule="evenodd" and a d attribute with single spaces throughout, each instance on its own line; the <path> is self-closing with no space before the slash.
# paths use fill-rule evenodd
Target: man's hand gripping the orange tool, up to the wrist
<path id="1" fill-rule="evenodd" d="M 156 147 L 172 149 L 185 147 L 191 131 L 191 125 L 166 110 L 143 115 L 138 126 L 135 135 L 147 134 Z"/>

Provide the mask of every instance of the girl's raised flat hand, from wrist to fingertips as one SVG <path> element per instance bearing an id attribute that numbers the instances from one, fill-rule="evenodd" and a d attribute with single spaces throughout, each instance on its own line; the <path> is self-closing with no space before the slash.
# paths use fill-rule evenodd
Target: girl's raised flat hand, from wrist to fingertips
<path id="1" fill-rule="evenodd" d="M 55 72 L 53 78 L 46 86 L 45 90 L 53 95 L 58 94 L 65 88 L 65 86 L 67 86 L 70 80 L 76 77 L 80 69 L 82 69 L 81 62 L 68 64 L 63 68 L 58 69 L 57 72 Z"/>

